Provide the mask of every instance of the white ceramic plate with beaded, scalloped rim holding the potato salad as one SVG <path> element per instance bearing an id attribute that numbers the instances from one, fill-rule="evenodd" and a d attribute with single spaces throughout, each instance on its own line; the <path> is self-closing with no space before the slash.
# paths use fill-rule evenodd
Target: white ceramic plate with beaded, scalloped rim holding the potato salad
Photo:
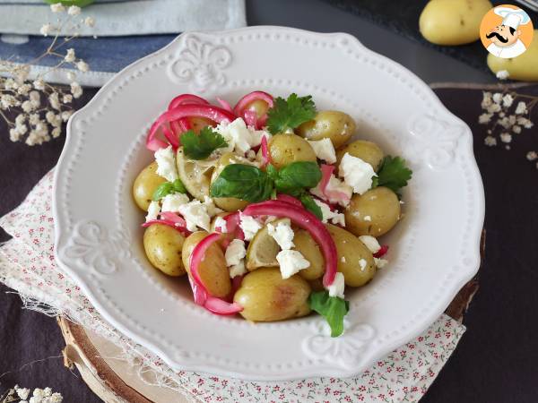
<path id="1" fill-rule="evenodd" d="M 251 90 L 311 94 L 413 169 L 386 269 L 348 292 L 342 337 L 320 316 L 251 324 L 195 305 L 152 269 L 131 198 L 145 133 L 183 92 L 233 105 Z M 130 65 L 70 119 L 56 169 L 56 259 L 100 313 L 175 369 L 256 380 L 350 376 L 426 329 L 479 266 L 482 181 L 469 128 L 399 64 L 350 35 L 279 27 L 192 32 Z"/>

